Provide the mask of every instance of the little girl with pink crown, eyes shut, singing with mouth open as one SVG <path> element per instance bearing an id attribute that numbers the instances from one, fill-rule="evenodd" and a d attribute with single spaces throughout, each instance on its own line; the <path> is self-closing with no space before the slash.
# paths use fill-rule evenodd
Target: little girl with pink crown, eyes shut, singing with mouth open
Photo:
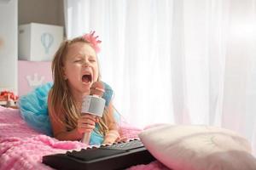
<path id="1" fill-rule="evenodd" d="M 83 37 L 66 40 L 61 43 L 53 59 L 54 83 L 52 87 L 48 85 L 48 113 L 52 133 L 56 139 L 80 140 L 84 133 L 90 132 L 90 144 L 110 144 L 119 139 L 111 101 L 113 91 L 108 84 L 104 83 L 103 98 L 106 99 L 106 105 L 102 117 L 90 114 L 81 116 L 84 95 L 90 94 L 93 82 L 100 81 L 96 54 L 100 50 L 98 43 L 101 41 L 96 38 L 92 32 Z M 37 90 L 40 91 L 42 88 Z M 26 97 L 20 99 L 20 112 L 25 120 L 33 125 L 35 123 L 32 121 L 35 118 L 29 116 L 26 105 L 22 105 L 27 103 L 26 100 Z"/>

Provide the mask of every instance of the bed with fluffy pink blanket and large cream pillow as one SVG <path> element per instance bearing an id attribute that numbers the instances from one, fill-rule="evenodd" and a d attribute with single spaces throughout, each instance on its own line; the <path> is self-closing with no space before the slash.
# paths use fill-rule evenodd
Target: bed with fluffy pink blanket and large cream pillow
<path id="1" fill-rule="evenodd" d="M 250 143 L 236 132 L 204 125 L 161 124 L 143 130 L 120 126 L 121 137 L 139 137 L 157 161 L 129 167 L 173 170 L 255 170 Z M 59 141 L 34 131 L 20 111 L 0 106 L 0 170 L 52 169 L 42 157 L 86 147 L 78 141 Z M 129 161 L 129 160 L 127 160 Z"/>

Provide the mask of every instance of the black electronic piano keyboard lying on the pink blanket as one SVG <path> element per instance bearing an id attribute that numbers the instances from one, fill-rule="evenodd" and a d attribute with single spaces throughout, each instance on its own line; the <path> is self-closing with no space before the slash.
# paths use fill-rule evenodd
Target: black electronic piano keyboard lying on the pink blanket
<path id="1" fill-rule="evenodd" d="M 98 148 L 67 151 L 65 154 L 43 156 L 43 163 L 55 169 L 112 170 L 147 164 L 155 158 L 138 139 Z"/>

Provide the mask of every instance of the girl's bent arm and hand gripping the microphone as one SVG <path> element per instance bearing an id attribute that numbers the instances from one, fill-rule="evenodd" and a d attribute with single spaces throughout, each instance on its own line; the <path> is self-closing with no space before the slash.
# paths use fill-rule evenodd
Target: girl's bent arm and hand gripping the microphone
<path id="1" fill-rule="evenodd" d="M 90 115 L 81 116 L 79 119 L 78 127 L 74 128 L 72 131 L 67 131 L 67 128 L 63 123 L 56 119 L 59 117 L 61 121 L 65 121 L 65 116 L 63 114 L 55 113 L 53 105 L 51 105 L 51 90 L 48 96 L 48 111 L 49 120 L 51 123 L 52 131 L 55 139 L 59 140 L 79 140 L 82 139 L 84 132 L 90 132 L 95 127 L 95 118 Z M 60 111 L 60 110 L 58 110 Z"/>

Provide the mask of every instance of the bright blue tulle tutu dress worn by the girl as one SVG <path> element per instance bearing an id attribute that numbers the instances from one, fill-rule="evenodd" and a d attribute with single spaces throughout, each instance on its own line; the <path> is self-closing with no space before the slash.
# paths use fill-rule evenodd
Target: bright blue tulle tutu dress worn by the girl
<path id="1" fill-rule="evenodd" d="M 53 83 L 48 82 L 38 88 L 35 88 L 29 94 L 23 95 L 19 100 L 20 114 L 26 123 L 40 133 L 53 136 L 52 128 L 49 122 L 48 113 L 48 94 Z M 108 106 L 113 96 L 112 88 L 104 82 L 105 93 L 102 98 L 106 100 Z M 114 114 L 116 115 L 116 113 Z M 115 116 L 117 118 L 118 116 Z M 117 118 L 118 119 L 118 118 Z M 90 134 L 90 144 L 102 144 L 103 137 L 96 133 L 96 129 Z"/>

